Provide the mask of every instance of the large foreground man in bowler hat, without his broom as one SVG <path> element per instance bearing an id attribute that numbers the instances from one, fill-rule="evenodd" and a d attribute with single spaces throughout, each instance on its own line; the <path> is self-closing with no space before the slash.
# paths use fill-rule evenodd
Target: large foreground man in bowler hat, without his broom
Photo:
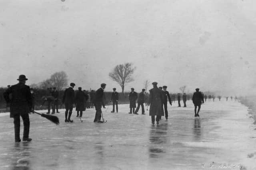
<path id="1" fill-rule="evenodd" d="M 10 117 L 14 118 L 14 134 L 15 142 L 20 142 L 20 116 L 23 120 L 24 130 L 22 141 L 31 141 L 29 138 L 29 112 L 32 110 L 32 96 L 30 93 L 29 86 L 25 85 L 26 78 L 25 75 L 20 75 L 17 79 L 18 84 L 15 84 L 8 88 L 4 92 L 4 99 L 6 102 L 10 103 Z"/>

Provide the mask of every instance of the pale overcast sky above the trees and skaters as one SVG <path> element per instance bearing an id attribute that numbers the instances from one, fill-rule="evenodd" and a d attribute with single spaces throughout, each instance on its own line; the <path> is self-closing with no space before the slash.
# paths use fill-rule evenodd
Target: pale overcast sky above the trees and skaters
<path id="1" fill-rule="evenodd" d="M 255 0 L 1 0 L 0 86 L 64 70 L 76 88 L 121 91 L 108 73 L 132 62 L 125 91 L 148 79 L 169 92 L 256 92 L 255 9 Z"/>

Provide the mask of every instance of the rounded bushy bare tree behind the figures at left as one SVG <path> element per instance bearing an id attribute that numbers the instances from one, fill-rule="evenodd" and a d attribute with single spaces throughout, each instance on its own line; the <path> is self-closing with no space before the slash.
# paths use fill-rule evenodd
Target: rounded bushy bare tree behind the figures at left
<path id="1" fill-rule="evenodd" d="M 50 81 L 52 82 L 52 86 L 56 87 L 57 90 L 62 90 L 64 87 L 68 86 L 68 76 L 64 71 L 52 74 Z"/>

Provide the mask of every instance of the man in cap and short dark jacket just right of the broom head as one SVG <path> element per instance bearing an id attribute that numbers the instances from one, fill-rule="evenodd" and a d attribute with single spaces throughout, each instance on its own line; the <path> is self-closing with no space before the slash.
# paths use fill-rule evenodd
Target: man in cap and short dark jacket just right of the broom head
<path id="1" fill-rule="evenodd" d="M 72 115 L 73 111 L 73 104 L 75 103 L 75 92 L 74 92 L 74 86 L 76 84 L 70 83 L 70 87 L 67 88 L 64 92 L 64 96 L 62 98 L 62 104 L 65 104 L 65 122 L 74 122 L 73 120 L 70 120 L 70 117 Z"/>

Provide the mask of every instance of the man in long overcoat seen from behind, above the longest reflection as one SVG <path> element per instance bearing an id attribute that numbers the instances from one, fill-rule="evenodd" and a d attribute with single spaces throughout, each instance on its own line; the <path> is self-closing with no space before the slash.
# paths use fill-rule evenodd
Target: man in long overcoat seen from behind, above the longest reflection
<path id="1" fill-rule="evenodd" d="M 161 116 L 164 116 L 163 111 L 163 95 L 162 90 L 157 88 L 157 82 L 153 82 L 153 88 L 150 89 L 150 109 L 149 115 L 151 116 L 152 124 L 155 124 L 155 116 L 156 116 L 156 124 L 159 124 L 159 120 Z"/>

